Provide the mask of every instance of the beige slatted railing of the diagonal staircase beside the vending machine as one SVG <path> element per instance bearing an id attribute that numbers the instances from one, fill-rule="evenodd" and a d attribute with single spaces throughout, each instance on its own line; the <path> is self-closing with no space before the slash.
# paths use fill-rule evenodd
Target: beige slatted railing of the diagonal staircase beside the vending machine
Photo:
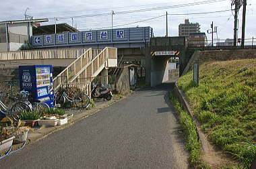
<path id="1" fill-rule="evenodd" d="M 107 66 L 108 58 L 117 58 L 117 48 L 106 47 L 103 50 L 90 48 L 53 79 L 54 89 L 57 90 L 63 83 L 89 84 Z"/>

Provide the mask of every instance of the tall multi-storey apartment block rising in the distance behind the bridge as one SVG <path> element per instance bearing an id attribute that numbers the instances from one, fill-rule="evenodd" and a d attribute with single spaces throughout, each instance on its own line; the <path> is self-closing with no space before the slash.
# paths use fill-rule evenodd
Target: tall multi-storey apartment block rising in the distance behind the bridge
<path id="1" fill-rule="evenodd" d="M 189 34 L 199 33 L 199 23 L 189 23 L 189 19 L 185 19 L 185 23 L 179 24 L 179 36 L 185 36 L 186 40 L 189 39 Z"/>

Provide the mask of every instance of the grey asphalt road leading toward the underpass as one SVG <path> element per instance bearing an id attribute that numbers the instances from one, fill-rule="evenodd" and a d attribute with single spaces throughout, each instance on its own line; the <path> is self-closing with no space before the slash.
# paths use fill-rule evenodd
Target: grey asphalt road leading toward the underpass
<path id="1" fill-rule="evenodd" d="M 188 168 L 172 87 L 139 91 L 7 156 L 0 168 Z"/>

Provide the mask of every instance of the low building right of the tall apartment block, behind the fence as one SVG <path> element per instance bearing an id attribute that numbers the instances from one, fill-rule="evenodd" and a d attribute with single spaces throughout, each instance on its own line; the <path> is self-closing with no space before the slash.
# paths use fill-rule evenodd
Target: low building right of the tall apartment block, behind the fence
<path id="1" fill-rule="evenodd" d="M 207 46 L 207 36 L 204 32 L 189 34 L 188 46 L 190 47 L 203 47 Z"/>

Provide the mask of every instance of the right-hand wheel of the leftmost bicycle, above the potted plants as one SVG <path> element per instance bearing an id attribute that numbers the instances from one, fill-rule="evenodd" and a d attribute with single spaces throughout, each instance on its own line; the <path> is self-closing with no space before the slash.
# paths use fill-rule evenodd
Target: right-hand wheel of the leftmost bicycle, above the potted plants
<path id="1" fill-rule="evenodd" d="M 11 117 L 15 121 L 19 121 L 20 113 L 26 112 L 26 111 L 32 111 L 31 107 L 27 103 L 24 103 L 24 102 L 15 103 L 11 107 Z"/>

